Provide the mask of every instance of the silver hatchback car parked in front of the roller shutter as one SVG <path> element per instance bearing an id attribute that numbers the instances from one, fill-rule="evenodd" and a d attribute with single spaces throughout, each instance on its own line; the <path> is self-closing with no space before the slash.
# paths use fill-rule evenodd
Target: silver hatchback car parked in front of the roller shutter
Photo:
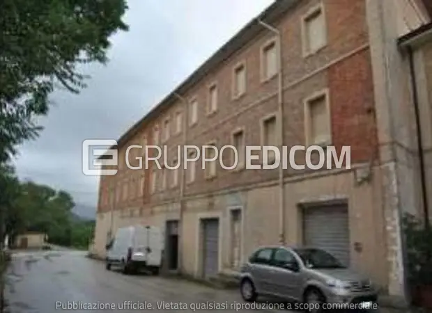
<path id="1" fill-rule="evenodd" d="M 309 311 L 322 310 L 324 303 L 373 305 L 378 297 L 368 278 L 325 250 L 280 246 L 259 248 L 249 257 L 241 268 L 240 291 L 246 301 L 271 296 L 307 303 Z"/>

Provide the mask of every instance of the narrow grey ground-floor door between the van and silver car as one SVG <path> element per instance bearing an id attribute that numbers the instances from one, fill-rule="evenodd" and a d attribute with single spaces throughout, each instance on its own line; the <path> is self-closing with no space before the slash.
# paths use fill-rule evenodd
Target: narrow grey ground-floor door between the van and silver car
<path id="1" fill-rule="evenodd" d="M 203 272 L 208 278 L 217 275 L 219 267 L 219 220 L 203 220 Z"/>

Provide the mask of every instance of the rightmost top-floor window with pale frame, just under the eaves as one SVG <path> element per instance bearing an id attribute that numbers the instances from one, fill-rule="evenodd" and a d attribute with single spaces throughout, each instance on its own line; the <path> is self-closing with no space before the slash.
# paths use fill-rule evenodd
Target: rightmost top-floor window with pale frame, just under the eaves
<path id="1" fill-rule="evenodd" d="M 323 6 L 312 8 L 303 17 L 303 54 L 314 54 L 327 44 Z"/>

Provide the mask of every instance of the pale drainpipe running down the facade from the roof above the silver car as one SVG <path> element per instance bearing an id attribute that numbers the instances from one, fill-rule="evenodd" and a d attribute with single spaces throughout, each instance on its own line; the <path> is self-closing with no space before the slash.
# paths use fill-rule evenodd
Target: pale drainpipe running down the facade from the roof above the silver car
<path id="1" fill-rule="evenodd" d="M 263 22 L 258 18 L 259 24 L 277 36 L 277 54 L 278 54 L 278 93 L 277 102 L 279 108 L 279 152 L 282 153 L 284 146 L 284 72 L 282 66 L 282 35 L 279 29 Z M 281 159 L 279 160 L 281 161 Z M 285 245 L 285 192 L 284 192 L 284 167 L 279 163 L 279 241 Z"/>

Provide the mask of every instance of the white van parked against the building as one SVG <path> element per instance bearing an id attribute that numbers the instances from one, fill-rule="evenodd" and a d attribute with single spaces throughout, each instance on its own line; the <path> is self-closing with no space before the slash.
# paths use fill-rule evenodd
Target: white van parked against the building
<path id="1" fill-rule="evenodd" d="M 123 273 L 140 269 L 159 273 L 162 266 L 164 237 L 162 230 L 154 226 L 129 226 L 118 229 L 107 248 L 106 267 L 120 266 Z"/>

